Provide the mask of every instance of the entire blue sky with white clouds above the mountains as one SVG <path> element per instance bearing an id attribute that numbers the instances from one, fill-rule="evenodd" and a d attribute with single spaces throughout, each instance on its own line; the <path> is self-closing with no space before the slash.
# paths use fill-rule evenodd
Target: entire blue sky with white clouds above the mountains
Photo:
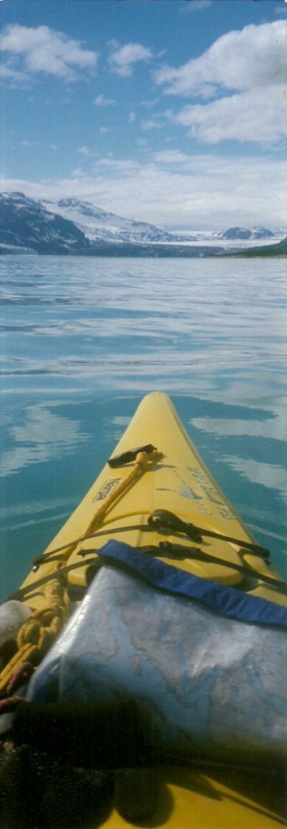
<path id="1" fill-rule="evenodd" d="M 0 189 L 285 225 L 286 0 L 0 0 Z"/>

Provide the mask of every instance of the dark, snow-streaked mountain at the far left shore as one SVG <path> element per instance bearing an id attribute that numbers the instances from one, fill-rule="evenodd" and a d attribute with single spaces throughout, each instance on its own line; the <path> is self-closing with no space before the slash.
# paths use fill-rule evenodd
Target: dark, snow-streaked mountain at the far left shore
<path id="1" fill-rule="evenodd" d="M 68 254 L 90 248 L 89 240 L 73 222 L 18 192 L 0 195 L 0 245 L 36 253 Z"/>

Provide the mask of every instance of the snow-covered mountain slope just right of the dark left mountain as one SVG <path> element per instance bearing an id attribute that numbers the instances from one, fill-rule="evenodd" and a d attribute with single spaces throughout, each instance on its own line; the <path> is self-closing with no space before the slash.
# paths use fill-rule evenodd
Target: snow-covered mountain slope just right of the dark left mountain
<path id="1" fill-rule="evenodd" d="M 46 210 L 58 213 L 65 219 L 73 221 L 90 241 L 109 243 L 129 242 L 148 244 L 150 242 L 173 242 L 174 237 L 166 230 L 161 230 L 147 222 L 124 219 L 90 204 L 90 201 L 61 199 L 61 201 L 43 201 Z"/>

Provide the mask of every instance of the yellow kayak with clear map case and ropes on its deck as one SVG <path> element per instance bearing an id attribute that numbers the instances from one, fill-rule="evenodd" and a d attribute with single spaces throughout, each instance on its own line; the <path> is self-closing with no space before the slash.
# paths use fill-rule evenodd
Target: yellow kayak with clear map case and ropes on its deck
<path id="1" fill-rule="evenodd" d="M 2 671 L 4 698 L 13 672 L 32 662 L 39 667 L 31 704 L 45 709 L 45 693 L 47 704 L 52 698 L 45 689 L 57 676 L 61 702 L 115 704 L 125 694 L 151 724 L 153 812 L 133 819 L 111 805 L 96 826 L 282 825 L 280 703 L 272 689 L 274 676 L 280 680 L 285 583 L 216 485 L 168 395 L 143 398 L 90 491 L 10 599 L 33 613 Z M 49 637 L 56 638 L 51 650 Z"/>

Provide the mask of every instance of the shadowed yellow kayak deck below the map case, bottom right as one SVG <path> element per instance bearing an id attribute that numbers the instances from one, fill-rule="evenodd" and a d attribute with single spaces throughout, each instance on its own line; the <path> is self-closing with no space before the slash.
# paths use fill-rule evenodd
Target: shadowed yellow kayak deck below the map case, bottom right
<path id="1" fill-rule="evenodd" d="M 238 769 L 158 769 L 158 808 L 140 822 L 114 809 L 104 829 L 279 829 L 285 826 L 284 778 Z"/>

